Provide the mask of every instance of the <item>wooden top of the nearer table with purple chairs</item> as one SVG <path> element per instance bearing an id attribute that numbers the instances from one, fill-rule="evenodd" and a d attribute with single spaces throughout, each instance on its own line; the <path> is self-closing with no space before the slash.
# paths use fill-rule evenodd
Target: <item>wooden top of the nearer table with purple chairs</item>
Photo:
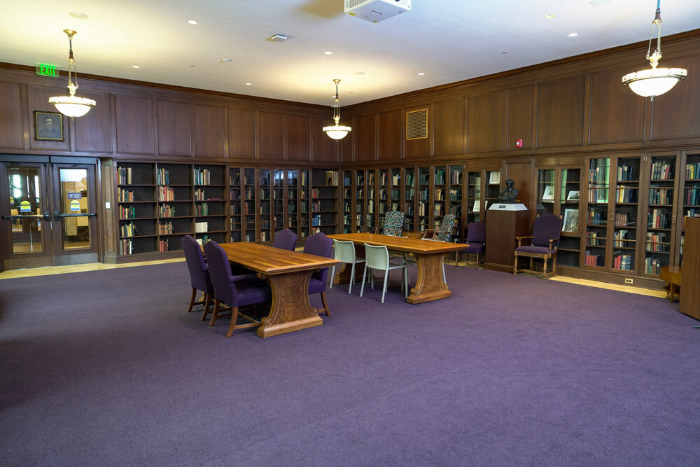
<path id="1" fill-rule="evenodd" d="M 251 242 L 220 243 L 228 260 L 243 265 L 255 272 L 264 274 L 284 274 L 286 272 L 321 269 L 339 263 L 333 258 L 307 255 L 298 251 L 283 250 L 273 246 Z"/>

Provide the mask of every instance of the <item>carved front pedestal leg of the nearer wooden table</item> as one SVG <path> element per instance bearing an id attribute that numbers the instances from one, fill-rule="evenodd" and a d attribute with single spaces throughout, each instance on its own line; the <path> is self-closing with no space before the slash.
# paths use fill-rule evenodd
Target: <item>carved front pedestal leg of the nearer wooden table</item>
<path id="1" fill-rule="evenodd" d="M 260 279 L 267 279 L 272 289 L 272 307 L 267 318 L 260 321 L 260 337 L 291 333 L 323 324 L 323 319 L 318 316 L 318 309 L 311 307 L 309 300 L 311 273 L 312 270 L 271 276 L 258 274 Z"/>

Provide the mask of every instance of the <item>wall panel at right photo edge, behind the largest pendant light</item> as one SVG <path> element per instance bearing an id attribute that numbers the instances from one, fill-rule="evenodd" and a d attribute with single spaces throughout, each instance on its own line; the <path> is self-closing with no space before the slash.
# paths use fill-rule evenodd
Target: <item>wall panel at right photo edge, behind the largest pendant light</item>
<path id="1" fill-rule="evenodd" d="M 700 136 L 700 54 L 678 59 L 664 55 L 664 62 L 662 66 L 665 67 L 687 69 L 688 77 L 666 94 L 654 97 L 651 139 L 698 137 Z"/>

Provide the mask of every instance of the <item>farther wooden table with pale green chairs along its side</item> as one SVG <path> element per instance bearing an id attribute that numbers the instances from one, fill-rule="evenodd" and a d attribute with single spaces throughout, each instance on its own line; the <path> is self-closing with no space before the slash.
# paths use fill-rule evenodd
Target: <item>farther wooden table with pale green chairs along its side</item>
<path id="1" fill-rule="evenodd" d="M 433 240 L 369 233 L 337 234 L 328 235 L 328 237 L 344 242 L 353 242 L 356 248 L 367 243 L 370 245 L 384 245 L 392 251 L 413 253 L 416 257 L 416 263 L 418 263 L 418 281 L 416 286 L 411 289 L 411 295 L 408 295 L 406 301 L 414 305 L 416 303 L 440 300 L 440 298 L 447 298 L 452 295 L 449 288 L 447 288 L 447 284 L 442 280 L 442 262 L 450 251 L 463 250 L 469 246 L 468 244 L 435 242 Z M 363 264 L 360 263 L 358 266 L 364 267 Z M 339 278 L 339 284 L 342 284 L 342 281 L 350 280 L 349 271 L 349 267 L 344 268 L 343 275 Z M 362 275 L 361 272 L 360 270 L 360 277 Z M 355 277 L 357 277 L 357 272 Z"/>

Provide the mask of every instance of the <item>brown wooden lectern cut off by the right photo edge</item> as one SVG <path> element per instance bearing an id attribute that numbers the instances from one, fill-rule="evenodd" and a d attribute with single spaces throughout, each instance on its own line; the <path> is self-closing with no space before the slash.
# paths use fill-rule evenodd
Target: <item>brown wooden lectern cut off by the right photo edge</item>
<path id="1" fill-rule="evenodd" d="M 685 240 L 680 279 L 681 312 L 700 319 L 700 218 L 685 217 Z"/>

